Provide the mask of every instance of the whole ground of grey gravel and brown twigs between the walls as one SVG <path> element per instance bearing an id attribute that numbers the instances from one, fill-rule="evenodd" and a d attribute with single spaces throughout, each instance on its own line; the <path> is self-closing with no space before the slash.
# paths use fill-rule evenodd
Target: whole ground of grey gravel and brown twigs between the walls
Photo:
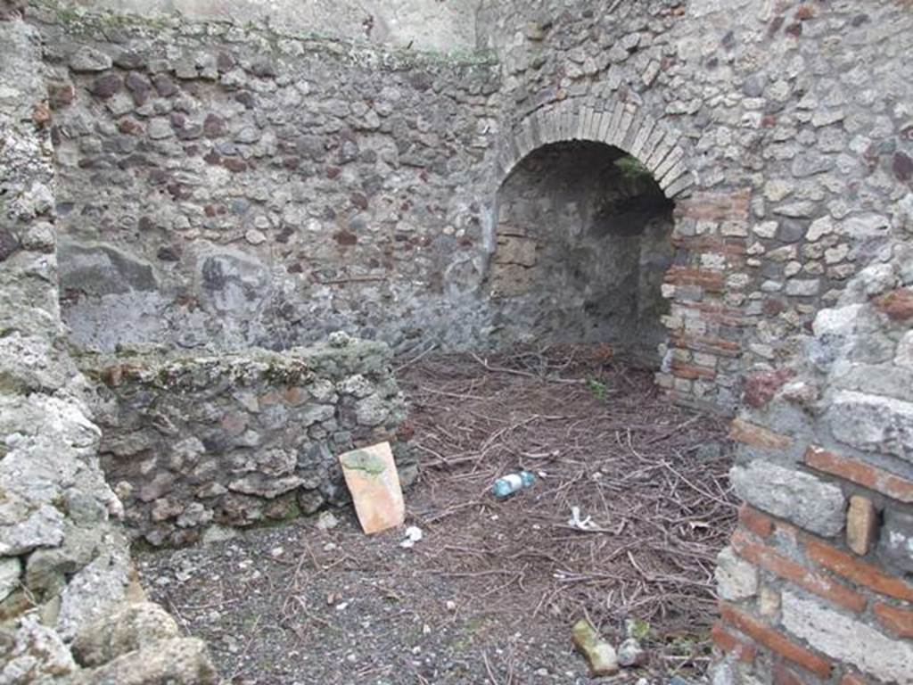
<path id="1" fill-rule="evenodd" d="M 714 557 L 735 518 L 723 422 L 669 406 L 607 349 L 401 362 L 422 457 L 402 531 L 349 509 L 143 553 L 152 597 L 209 641 L 226 683 L 587 683 L 571 627 L 645 635 L 645 668 L 701 680 Z M 506 501 L 498 476 L 538 480 Z M 579 511 L 573 522 L 572 508 Z M 644 685 L 644 683 L 641 683 Z"/>

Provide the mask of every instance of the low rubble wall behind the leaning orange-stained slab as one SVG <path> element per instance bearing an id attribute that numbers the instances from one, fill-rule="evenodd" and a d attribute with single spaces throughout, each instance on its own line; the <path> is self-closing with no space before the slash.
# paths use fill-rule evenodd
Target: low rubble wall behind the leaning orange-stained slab
<path id="1" fill-rule="evenodd" d="M 101 465 L 128 530 L 153 545 L 196 542 L 213 524 L 247 526 L 348 499 L 337 456 L 398 441 L 404 400 L 389 348 L 344 333 L 285 353 L 87 356 L 100 382 Z"/>

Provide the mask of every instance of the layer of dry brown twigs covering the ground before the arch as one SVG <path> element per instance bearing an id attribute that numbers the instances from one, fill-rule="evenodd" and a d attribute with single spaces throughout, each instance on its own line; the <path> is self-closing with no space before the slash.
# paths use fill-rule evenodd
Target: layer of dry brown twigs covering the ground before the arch
<path id="1" fill-rule="evenodd" d="M 666 644 L 706 634 L 736 513 L 723 421 L 670 406 L 607 348 L 426 355 L 399 376 L 423 464 L 410 513 L 434 533 L 435 573 L 527 619 L 636 618 Z M 518 469 L 535 486 L 493 498 Z"/>

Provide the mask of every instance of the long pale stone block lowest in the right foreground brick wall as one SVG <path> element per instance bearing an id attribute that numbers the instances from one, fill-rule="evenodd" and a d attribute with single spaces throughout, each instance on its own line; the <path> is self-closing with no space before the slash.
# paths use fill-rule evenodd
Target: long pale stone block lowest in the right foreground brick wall
<path id="1" fill-rule="evenodd" d="M 913 644 L 792 592 L 782 595 L 783 626 L 832 659 L 899 685 L 913 683 Z"/>

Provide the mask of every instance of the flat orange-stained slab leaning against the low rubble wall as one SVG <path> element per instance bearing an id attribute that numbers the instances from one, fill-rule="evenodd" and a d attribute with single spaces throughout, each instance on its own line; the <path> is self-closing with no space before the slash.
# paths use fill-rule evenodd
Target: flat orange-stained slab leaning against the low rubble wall
<path id="1" fill-rule="evenodd" d="M 370 535 L 403 524 L 403 490 L 390 443 L 341 454 L 340 464 L 364 532 Z"/>

